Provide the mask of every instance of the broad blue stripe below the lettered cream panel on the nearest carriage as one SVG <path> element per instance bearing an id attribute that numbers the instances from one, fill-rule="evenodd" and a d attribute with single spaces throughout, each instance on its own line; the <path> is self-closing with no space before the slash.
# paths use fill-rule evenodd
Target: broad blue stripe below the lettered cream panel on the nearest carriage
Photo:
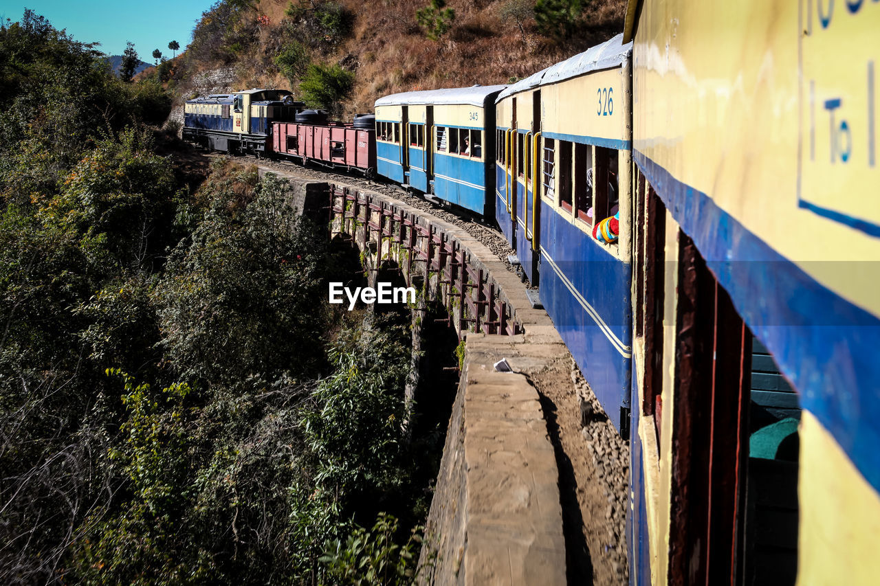
<path id="1" fill-rule="evenodd" d="M 707 194 L 638 150 L 634 159 L 774 355 L 801 406 L 880 490 L 880 319 L 817 282 Z M 865 266 L 854 263 L 850 270 Z"/>

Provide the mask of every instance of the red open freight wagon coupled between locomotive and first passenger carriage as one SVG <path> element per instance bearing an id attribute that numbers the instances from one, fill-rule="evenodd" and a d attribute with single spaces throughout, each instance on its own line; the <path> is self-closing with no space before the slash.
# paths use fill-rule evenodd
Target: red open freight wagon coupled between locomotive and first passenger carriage
<path id="1" fill-rule="evenodd" d="M 305 110 L 296 122 L 273 124 L 272 146 L 282 157 L 317 161 L 322 165 L 356 169 L 368 177 L 376 171 L 375 116 L 358 114 L 353 123 L 328 122 L 326 114 Z"/>

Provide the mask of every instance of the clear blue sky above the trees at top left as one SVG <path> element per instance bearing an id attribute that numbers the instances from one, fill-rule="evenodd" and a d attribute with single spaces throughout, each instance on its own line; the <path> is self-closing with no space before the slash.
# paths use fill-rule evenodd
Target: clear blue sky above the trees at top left
<path id="1" fill-rule="evenodd" d="M 192 39 L 195 22 L 211 4 L 212 0 L 0 0 L 0 17 L 16 22 L 30 8 L 76 40 L 99 42 L 107 55 L 122 55 L 130 40 L 141 60 L 151 63 L 153 49 L 172 56 L 172 40 L 180 43 L 180 54 Z"/>

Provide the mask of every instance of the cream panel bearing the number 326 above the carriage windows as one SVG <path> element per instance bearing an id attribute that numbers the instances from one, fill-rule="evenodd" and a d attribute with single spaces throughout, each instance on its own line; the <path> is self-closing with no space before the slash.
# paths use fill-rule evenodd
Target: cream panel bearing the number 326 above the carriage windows
<path id="1" fill-rule="evenodd" d="M 543 132 L 629 140 L 626 85 L 620 69 L 541 88 Z"/>

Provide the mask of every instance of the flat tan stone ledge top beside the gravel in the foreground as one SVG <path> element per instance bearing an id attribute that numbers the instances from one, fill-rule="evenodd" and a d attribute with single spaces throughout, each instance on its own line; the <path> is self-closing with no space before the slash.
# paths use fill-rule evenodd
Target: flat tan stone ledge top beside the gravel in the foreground
<path id="1" fill-rule="evenodd" d="M 559 472 L 538 392 L 523 374 L 493 368 L 502 357 L 533 366 L 559 348 L 513 338 L 467 336 L 429 515 L 426 550 L 436 560 L 426 566 L 423 553 L 422 583 L 566 582 Z M 530 356 L 530 348 L 543 349 Z"/>

